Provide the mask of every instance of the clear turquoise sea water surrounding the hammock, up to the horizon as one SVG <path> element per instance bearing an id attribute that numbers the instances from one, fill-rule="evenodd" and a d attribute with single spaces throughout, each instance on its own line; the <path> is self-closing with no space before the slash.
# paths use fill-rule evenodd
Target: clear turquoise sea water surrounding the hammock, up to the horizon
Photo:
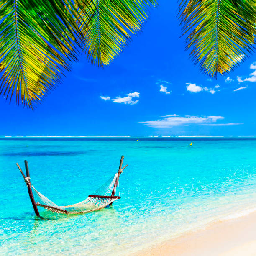
<path id="1" fill-rule="evenodd" d="M 121 255 L 256 208 L 256 140 L 0 139 L 0 254 Z M 58 205 L 84 200 L 118 169 L 121 199 L 84 215 L 33 213 L 23 178 Z"/>

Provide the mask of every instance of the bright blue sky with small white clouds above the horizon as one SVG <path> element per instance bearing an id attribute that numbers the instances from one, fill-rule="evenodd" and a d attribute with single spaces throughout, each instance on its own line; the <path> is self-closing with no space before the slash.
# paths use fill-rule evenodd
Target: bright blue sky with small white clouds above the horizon
<path id="1" fill-rule="evenodd" d="M 0 135 L 256 135 L 256 54 L 211 80 L 184 51 L 180 29 L 177 3 L 159 1 L 110 66 L 80 56 L 34 111 L 0 97 Z"/>

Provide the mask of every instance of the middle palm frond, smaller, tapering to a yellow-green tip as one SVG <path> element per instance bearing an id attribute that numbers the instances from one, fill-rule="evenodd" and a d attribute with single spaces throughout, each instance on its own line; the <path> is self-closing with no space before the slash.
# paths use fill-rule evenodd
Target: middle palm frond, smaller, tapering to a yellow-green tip
<path id="1" fill-rule="evenodd" d="M 86 26 L 80 27 L 88 59 L 108 65 L 127 45 L 131 34 L 148 18 L 147 8 L 155 0 L 75 0 Z M 87 15 L 87 17 L 84 17 Z M 82 23 L 82 22 L 80 22 Z"/>

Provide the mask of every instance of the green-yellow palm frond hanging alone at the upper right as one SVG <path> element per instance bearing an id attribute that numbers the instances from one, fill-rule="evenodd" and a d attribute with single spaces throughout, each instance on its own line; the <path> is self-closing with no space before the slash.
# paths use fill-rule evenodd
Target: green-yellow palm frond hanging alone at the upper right
<path id="1" fill-rule="evenodd" d="M 186 49 L 211 77 L 233 70 L 253 50 L 256 0 L 181 0 L 180 12 Z"/>

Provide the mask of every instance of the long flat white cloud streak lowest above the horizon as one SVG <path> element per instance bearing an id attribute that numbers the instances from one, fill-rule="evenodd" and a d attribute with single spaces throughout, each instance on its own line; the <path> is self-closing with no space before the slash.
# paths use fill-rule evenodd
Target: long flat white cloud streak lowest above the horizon
<path id="1" fill-rule="evenodd" d="M 223 116 L 177 116 L 177 115 L 166 115 L 162 120 L 139 122 L 144 125 L 155 127 L 155 128 L 168 128 L 172 126 L 182 126 L 191 124 L 207 124 L 215 123 L 218 120 L 223 120 Z"/>

